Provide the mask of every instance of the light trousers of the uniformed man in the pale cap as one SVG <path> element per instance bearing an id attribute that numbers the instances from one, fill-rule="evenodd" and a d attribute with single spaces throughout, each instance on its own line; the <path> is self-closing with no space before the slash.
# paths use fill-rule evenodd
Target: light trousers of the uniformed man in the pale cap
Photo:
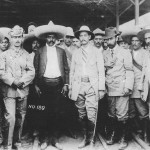
<path id="1" fill-rule="evenodd" d="M 27 97 L 23 99 L 18 98 L 4 98 L 5 105 L 5 120 L 7 130 L 4 130 L 4 144 L 12 145 L 12 142 L 20 142 L 23 123 L 27 109 Z"/>

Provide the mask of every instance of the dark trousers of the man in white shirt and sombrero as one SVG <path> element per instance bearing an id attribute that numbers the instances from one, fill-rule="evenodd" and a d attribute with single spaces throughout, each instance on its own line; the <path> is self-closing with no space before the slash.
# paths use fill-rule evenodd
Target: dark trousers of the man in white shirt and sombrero
<path id="1" fill-rule="evenodd" d="M 45 109 L 39 117 L 41 128 L 46 129 L 46 131 L 54 131 L 59 128 L 62 87 L 63 80 L 61 77 L 54 79 L 43 77 L 40 80 L 41 105 L 45 106 Z"/>

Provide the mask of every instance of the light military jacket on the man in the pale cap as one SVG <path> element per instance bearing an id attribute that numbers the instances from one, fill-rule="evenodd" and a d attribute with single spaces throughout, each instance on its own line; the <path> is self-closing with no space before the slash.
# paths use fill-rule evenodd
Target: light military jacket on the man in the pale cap
<path id="1" fill-rule="evenodd" d="M 23 88 L 20 89 L 24 96 L 28 95 L 28 85 L 35 76 L 35 69 L 29 53 L 20 49 L 16 53 L 14 49 L 3 52 L 0 56 L 0 79 L 2 80 L 2 92 L 4 97 L 20 97 L 17 90 L 11 87 L 14 80 L 23 82 Z"/>

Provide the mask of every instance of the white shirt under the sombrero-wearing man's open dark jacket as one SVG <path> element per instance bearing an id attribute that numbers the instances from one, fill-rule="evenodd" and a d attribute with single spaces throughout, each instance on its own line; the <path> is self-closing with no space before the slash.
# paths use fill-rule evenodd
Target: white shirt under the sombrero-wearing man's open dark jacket
<path id="1" fill-rule="evenodd" d="M 48 46 L 47 47 L 47 64 L 46 70 L 44 73 L 44 77 L 47 78 L 57 78 L 61 76 L 60 68 L 58 64 L 58 57 L 56 52 L 55 46 Z"/>

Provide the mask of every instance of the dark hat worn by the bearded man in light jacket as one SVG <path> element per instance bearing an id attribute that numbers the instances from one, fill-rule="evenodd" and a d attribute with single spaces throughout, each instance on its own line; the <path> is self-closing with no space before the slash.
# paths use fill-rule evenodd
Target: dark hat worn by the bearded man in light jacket
<path id="1" fill-rule="evenodd" d="M 104 39 L 109 39 L 112 38 L 114 36 L 120 35 L 121 32 L 117 32 L 116 28 L 114 27 L 109 27 L 105 29 L 105 35 L 104 35 Z"/>

